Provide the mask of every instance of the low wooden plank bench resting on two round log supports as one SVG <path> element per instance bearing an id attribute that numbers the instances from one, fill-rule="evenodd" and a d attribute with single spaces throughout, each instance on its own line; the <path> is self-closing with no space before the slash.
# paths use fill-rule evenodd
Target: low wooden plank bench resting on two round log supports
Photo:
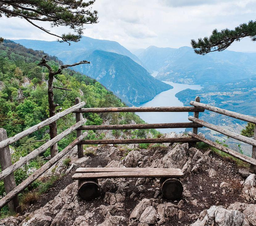
<path id="1" fill-rule="evenodd" d="M 78 180 L 79 196 L 84 200 L 92 200 L 98 196 L 97 179 L 120 177 L 161 178 L 162 194 L 169 200 L 179 199 L 183 192 L 183 185 L 179 180 L 183 177 L 183 172 L 175 168 L 78 168 L 72 179 Z"/>

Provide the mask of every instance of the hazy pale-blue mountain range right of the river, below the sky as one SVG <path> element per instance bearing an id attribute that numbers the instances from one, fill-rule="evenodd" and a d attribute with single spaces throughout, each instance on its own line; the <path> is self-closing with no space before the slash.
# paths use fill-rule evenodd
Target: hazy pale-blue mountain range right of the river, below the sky
<path id="1" fill-rule="evenodd" d="M 150 46 L 138 55 L 159 80 L 188 84 L 227 83 L 256 76 L 256 53 L 225 50 L 198 55 L 188 46 L 179 49 Z"/>

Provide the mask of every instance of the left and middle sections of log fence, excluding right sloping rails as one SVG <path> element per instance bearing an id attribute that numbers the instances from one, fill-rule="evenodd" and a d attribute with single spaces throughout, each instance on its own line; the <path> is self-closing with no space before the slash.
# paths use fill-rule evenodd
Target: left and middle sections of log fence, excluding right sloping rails
<path id="1" fill-rule="evenodd" d="M 198 99 L 198 97 L 197 97 Z M 197 100 L 196 99 L 196 100 Z M 23 132 L 16 134 L 14 137 L 7 138 L 4 129 L 0 130 L 0 162 L 2 166 L 2 172 L 0 172 L 0 180 L 4 180 L 6 188 L 6 196 L 0 200 L 0 208 L 9 202 L 10 210 L 17 210 L 17 195 L 27 188 L 33 181 L 41 176 L 47 169 L 53 164 L 59 161 L 65 154 L 67 154 L 74 146 L 77 145 L 77 155 L 79 158 L 83 157 L 83 145 L 84 144 L 133 144 L 133 143 L 195 143 L 197 138 L 193 137 L 176 137 L 176 138 L 150 138 L 150 139 L 123 139 L 123 140 L 84 140 L 87 136 L 87 132 L 82 133 L 82 130 L 109 130 L 109 129 L 161 129 L 161 128 L 194 128 L 202 127 L 196 122 L 180 122 L 180 123 L 156 123 L 156 124 L 128 124 L 128 125 L 83 125 L 86 119 L 83 118 L 82 113 L 115 113 L 115 112 L 194 112 L 198 117 L 199 112 L 203 112 L 204 108 L 194 106 L 178 106 L 178 107 L 122 107 L 122 108 L 81 108 L 85 105 L 85 102 L 81 102 L 80 98 L 76 98 L 74 106 L 68 108 L 55 116 L 50 117 L 37 125 L 32 126 Z M 58 134 L 53 139 L 47 141 L 39 148 L 35 149 L 27 156 L 22 157 L 19 161 L 11 164 L 9 145 L 19 141 L 19 139 L 30 135 L 31 133 L 51 124 L 52 122 L 64 117 L 69 113 L 75 113 L 76 124 L 66 129 L 62 133 Z M 24 180 L 18 186 L 15 185 L 14 171 L 37 157 L 49 147 L 56 144 L 72 131 L 76 130 L 76 140 L 69 144 L 60 153 L 56 154 L 41 168 L 37 169 L 31 176 Z M 5 133 L 4 133 L 5 132 Z M 2 134 L 2 136 L 1 136 Z"/>

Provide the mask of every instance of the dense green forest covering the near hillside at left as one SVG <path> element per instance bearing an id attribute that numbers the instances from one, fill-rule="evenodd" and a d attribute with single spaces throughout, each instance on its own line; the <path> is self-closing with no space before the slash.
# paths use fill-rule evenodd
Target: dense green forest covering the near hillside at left
<path id="1" fill-rule="evenodd" d="M 10 40 L 5 40 L 0 44 L 0 127 L 7 131 L 8 137 L 14 136 L 40 121 L 49 117 L 48 97 L 47 97 L 47 69 L 38 66 L 43 51 L 27 49 Z M 49 64 L 57 69 L 61 61 L 56 57 L 47 56 Z M 84 60 L 84 59 L 81 59 Z M 71 91 L 54 89 L 54 101 L 59 104 L 61 110 L 74 105 L 76 97 L 80 97 L 86 102 L 85 107 L 124 107 L 126 106 L 96 80 L 70 69 L 64 69 L 62 74 L 56 77 L 54 85 L 71 89 Z M 134 113 L 110 113 L 96 114 L 86 113 L 87 125 L 101 125 L 104 120 L 110 124 L 144 123 Z M 58 133 L 61 133 L 75 123 L 74 114 L 57 121 Z M 32 150 L 38 148 L 43 143 L 41 140 L 49 139 L 49 127 L 44 127 L 39 131 L 24 137 L 19 142 L 11 146 L 12 161 L 19 160 Z M 130 130 L 112 132 L 113 136 L 119 137 L 129 135 L 132 138 L 143 138 L 155 130 Z M 105 134 L 97 134 L 89 131 L 87 139 L 102 139 Z M 71 133 L 58 142 L 59 151 L 64 149 L 76 138 L 76 132 Z M 24 167 L 15 171 L 16 184 L 22 182 L 28 175 L 45 163 L 50 150 L 43 153 L 29 162 Z M 32 184 L 38 185 L 38 181 Z M 0 195 L 4 195 L 3 182 L 0 182 Z"/>

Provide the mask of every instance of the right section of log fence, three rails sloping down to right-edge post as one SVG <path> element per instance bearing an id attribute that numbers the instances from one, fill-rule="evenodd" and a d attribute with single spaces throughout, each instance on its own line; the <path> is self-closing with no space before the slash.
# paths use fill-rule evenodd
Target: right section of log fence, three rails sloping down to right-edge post
<path id="1" fill-rule="evenodd" d="M 216 142 L 213 142 L 213 141 L 210 141 L 206 138 L 200 137 L 196 133 L 191 133 L 191 132 L 188 133 L 193 138 L 196 138 L 200 141 L 203 141 L 204 143 L 206 143 L 208 145 L 211 145 L 211 146 L 213 146 L 213 147 L 215 147 L 215 148 L 217 148 L 217 149 L 219 149 L 219 150 L 221 150 L 225 153 L 228 153 L 229 155 L 231 155 L 233 157 L 236 157 L 236 158 L 238 158 L 242 161 L 245 161 L 245 162 L 249 163 L 251 165 L 250 166 L 250 172 L 251 173 L 256 173 L 256 117 L 252 117 L 252 116 L 249 116 L 249 115 L 243 115 L 243 114 L 240 114 L 240 113 L 237 113 L 237 112 L 217 108 L 215 106 L 199 103 L 199 102 L 196 102 L 196 101 L 191 101 L 190 104 L 197 107 L 197 108 L 204 108 L 204 109 L 209 110 L 209 111 L 213 111 L 213 112 L 216 112 L 216 113 L 219 113 L 219 114 L 223 114 L 223 115 L 226 115 L 226 116 L 229 116 L 229 117 L 233 117 L 233 118 L 240 119 L 240 120 L 243 120 L 243 121 L 250 122 L 250 123 L 254 124 L 254 137 L 249 138 L 249 137 L 245 137 L 245 136 L 242 136 L 240 134 L 231 132 L 227 129 L 221 128 L 220 126 L 213 125 L 209 122 L 200 120 L 196 117 L 192 117 L 192 116 L 188 117 L 188 119 L 190 121 L 194 122 L 194 123 L 197 123 L 199 125 L 207 127 L 209 129 L 212 129 L 212 130 L 214 130 L 218 133 L 224 134 L 228 137 L 232 137 L 232 138 L 234 138 L 238 141 L 242 141 L 244 143 L 252 145 L 252 157 L 248 157 L 248 156 L 245 156 L 243 154 L 237 153 L 237 152 L 235 152 L 235 151 L 233 151 L 229 148 L 226 148 L 226 147 L 224 147 L 220 144 L 217 144 Z"/>

